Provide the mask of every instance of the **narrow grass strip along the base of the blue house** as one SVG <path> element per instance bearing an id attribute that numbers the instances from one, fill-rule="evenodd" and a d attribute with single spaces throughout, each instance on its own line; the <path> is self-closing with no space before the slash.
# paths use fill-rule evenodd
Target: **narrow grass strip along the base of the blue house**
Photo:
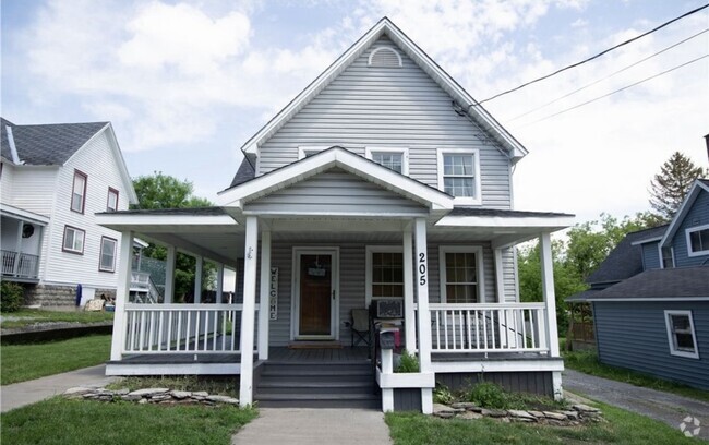
<path id="1" fill-rule="evenodd" d="M 709 401 L 709 392 L 598 361 L 594 351 L 564 352 L 564 365 L 586 374 Z"/>

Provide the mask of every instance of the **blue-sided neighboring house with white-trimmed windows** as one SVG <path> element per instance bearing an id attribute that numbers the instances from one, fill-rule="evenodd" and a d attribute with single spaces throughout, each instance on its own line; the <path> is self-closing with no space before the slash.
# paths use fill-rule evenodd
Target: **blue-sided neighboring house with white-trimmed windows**
<path id="1" fill-rule="evenodd" d="M 593 309 L 599 360 L 709 389 L 709 180 L 669 226 L 628 233 L 568 299 Z"/>

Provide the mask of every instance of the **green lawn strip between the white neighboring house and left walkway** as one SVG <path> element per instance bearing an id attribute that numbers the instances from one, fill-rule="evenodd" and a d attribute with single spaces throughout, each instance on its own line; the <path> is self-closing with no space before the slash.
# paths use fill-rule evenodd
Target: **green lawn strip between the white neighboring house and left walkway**
<path id="1" fill-rule="evenodd" d="M 100 364 L 109 359 L 110 349 L 110 335 L 34 345 L 7 345 L 0 349 L 0 384 L 25 382 Z"/>

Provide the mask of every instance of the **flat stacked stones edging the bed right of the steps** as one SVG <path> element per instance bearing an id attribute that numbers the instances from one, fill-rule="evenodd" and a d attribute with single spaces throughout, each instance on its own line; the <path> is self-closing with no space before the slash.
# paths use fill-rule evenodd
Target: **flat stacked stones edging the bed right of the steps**
<path id="1" fill-rule="evenodd" d="M 584 422 L 604 421 L 600 409 L 581 404 L 573 405 L 567 411 L 486 409 L 465 401 L 450 404 L 450 406 L 433 404 L 433 416 L 464 420 L 492 418 L 502 422 L 541 423 L 555 426 L 577 426 Z"/>

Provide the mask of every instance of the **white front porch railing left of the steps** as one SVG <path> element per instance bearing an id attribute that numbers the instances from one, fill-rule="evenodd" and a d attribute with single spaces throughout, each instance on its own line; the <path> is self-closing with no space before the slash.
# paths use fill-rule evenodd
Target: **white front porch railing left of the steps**
<path id="1" fill-rule="evenodd" d="M 242 310 L 242 304 L 127 303 L 123 353 L 238 353 Z"/>

